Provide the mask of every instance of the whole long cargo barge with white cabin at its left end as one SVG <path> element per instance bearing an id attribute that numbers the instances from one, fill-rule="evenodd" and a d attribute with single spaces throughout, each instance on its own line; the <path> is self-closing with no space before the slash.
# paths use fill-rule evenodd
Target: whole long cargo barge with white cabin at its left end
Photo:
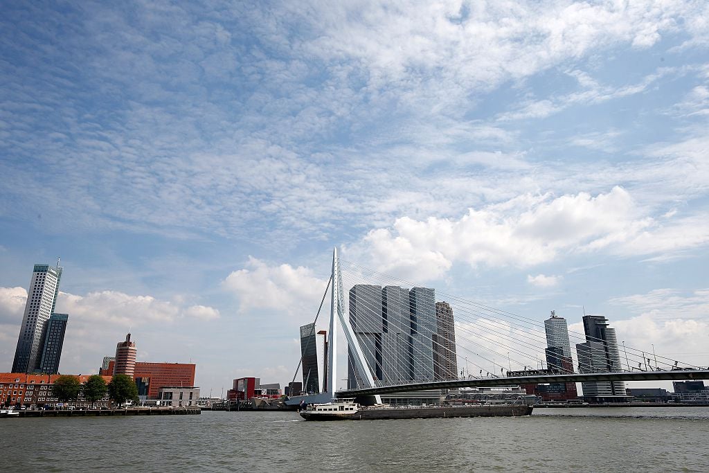
<path id="1" fill-rule="evenodd" d="M 369 421 L 374 419 L 415 419 L 449 417 L 530 416 L 525 404 L 479 404 L 475 406 L 360 406 L 352 401 L 309 404 L 299 411 L 306 421 Z"/>

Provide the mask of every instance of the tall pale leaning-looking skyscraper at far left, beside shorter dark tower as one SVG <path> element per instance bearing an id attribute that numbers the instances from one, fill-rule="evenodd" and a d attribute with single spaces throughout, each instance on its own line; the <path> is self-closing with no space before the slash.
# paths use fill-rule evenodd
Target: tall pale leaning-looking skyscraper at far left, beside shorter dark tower
<path id="1" fill-rule="evenodd" d="M 62 268 L 35 265 L 12 364 L 14 373 L 30 373 L 42 361 L 45 328 L 57 304 Z"/>

